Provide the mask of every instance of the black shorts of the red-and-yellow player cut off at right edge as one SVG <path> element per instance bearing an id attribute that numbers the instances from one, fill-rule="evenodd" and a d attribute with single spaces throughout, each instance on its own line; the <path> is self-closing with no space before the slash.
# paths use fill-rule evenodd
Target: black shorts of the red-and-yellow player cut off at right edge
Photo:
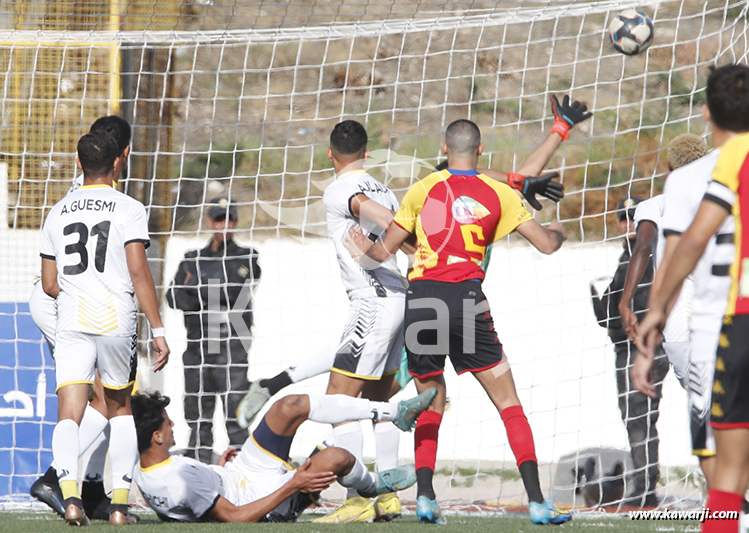
<path id="1" fill-rule="evenodd" d="M 715 357 L 710 425 L 749 428 L 749 315 L 726 317 Z"/>

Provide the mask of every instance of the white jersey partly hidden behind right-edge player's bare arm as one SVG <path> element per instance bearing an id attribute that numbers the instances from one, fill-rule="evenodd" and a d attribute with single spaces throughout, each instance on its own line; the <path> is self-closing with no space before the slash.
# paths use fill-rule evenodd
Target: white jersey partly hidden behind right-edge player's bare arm
<path id="1" fill-rule="evenodd" d="M 684 233 L 694 221 L 712 180 L 720 150 L 713 150 L 700 159 L 671 172 L 663 191 L 664 208 L 662 231 L 664 235 Z M 694 295 L 690 329 L 719 331 L 728 301 L 731 277 L 726 265 L 734 260 L 733 216 L 723 221 L 716 237 L 708 242 L 697 266 L 692 272 Z M 721 269 L 725 270 L 722 272 Z"/>

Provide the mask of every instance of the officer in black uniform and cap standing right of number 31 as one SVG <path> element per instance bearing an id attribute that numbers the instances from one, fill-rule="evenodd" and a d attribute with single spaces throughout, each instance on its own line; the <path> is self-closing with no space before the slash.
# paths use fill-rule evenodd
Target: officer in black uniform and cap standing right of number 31
<path id="1" fill-rule="evenodd" d="M 249 389 L 247 353 L 252 341 L 252 294 L 260 280 L 258 253 L 237 245 L 232 230 L 237 208 L 214 198 L 208 209 L 214 231 L 208 246 L 185 254 L 170 285 L 169 307 L 182 309 L 187 329 L 185 420 L 190 426 L 189 452 L 213 462 L 213 412 L 221 396 L 232 446 L 241 446 L 247 431 L 236 411 Z"/>

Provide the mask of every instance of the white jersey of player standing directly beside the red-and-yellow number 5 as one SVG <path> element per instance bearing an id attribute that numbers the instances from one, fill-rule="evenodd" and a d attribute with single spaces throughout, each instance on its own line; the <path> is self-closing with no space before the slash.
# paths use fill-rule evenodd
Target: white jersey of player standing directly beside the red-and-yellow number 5
<path id="1" fill-rule="evenodd" d="M 382 232 L 375 224 L 354 218 L 351 199 L 357 194 L 364 194 L 394 212 L 399 207 L 393 192 L 364 170 L 345 172 L 325 189 L 323 203 L 327 210 L 328 234 L 335 245 L 343 285 L 352 297 L 371 292 L 372 289 L 372 294 L 377 296 L 386 296 L 387 291 L 404 294 L 408 283 L 398 271 L 395 256 L 383 261 L 378 268 L 366 270 L 351 257 L 343 245 L 344 236 L 354 225 L 362 226 L 368 234 L 379 235 Z"/>

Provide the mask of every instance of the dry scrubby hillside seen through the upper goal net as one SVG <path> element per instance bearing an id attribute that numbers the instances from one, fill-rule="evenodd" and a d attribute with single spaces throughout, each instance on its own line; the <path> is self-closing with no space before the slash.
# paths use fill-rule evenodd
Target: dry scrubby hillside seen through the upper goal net
<path id="1" fill-rule="evenodd" d="M 419 4 L 423 13 L 445 5 Z M 304 16 L 322 24 L 324 13 L 335 11 L 331 6 L 304 4 L 294 16 L 287 9 L 263 27 L 288 29 Z M 498 13 L 518 3 L 492 6 Z M 176 229 L 195 226 L 199 210 L 191 206 L 207 196 L 206 177 L 225 180 L 244 204 L 244 227 L 275 231 L 279 212 L 287 216 L 284 223 L 315 227 L 324 216 L 318 185 L 331 176 L 328 135 L 344 118 L 366 124 L 372 149 L 436 163 L 446 124 L 468 117 L 483 132 L 482 163 L 512 170 L 548 132 L 548 95 L 571 93 L 595 117 L 573 133 L 549 168 L 563 175 L 568 196 L 559 211 L 574 222 L 570 229 L 600 239 L 613 222 L 607 212 L 622 195 L 649 197 L 662 188 L 667 142 L 686 131 L 706 132 L 699 108 L 708 67 L 744 54 L 736 44 L 745 23 L 740 9 L 713 10 L 724 7 L 722 0 L 662 2 L 655 45 L 636 57 L 613 51 L 603 31 L 606 13 L 379 35 L 291 38 L 280 32 L 267 42 L 179 46 L 172 67 L 174 178 L 183 206 Z M 244 6 L 244 18 L 242 6 L 235 8 L 232 27 L 252 19 L 252 6 Z M 389 20 L 401 17 L 392 13 Z M 352 16 L 339 11 L 328 20 L 340 24 Z M 376 10 L 367 17 L 377 20 Z M 418 176 L 382 177 L 402 190 Z M 542 216 L 549 217 L 552 210 L 546 211 Z"/>

